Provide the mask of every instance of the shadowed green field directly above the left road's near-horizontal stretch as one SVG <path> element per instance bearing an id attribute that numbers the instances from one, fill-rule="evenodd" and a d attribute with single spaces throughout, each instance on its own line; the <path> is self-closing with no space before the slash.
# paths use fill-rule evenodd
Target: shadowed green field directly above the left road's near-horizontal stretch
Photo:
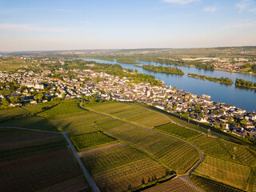
<path id="1" fill-rule="evenodd" d="M 6 122 L 0 122 L 0 126 L 22 127 L 33 130 L 58 131 L 57 127 L 44 117 L 31 116 L 28 118 L 17 118 Z"/>

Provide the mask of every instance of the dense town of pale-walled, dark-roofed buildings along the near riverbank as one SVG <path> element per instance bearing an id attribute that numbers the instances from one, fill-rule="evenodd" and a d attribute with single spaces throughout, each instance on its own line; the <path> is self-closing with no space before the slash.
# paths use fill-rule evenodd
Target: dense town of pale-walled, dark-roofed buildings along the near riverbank
<path id="1" fill-rule="evenodd" d="M 142 102 L 170 113 L 180 113 L 197 122 L 209 123 L 224 131 L 256 138 L 256 113 L 249 113 L 235 106 L 213 102 L 210 96 L 198 96 L 176 90 L 171 86 L 151 86 L 150 83 L 133 83 L 129 78 L 98 73 L 93 70 L 73 70 L 76 78 L 69 78 L 67 71 L 59 70 L 62 80 L 51 78 L 50 70 L 40 74 L 22 70 L 8 74 L 0 72 L 0 82 L 16 82 L 20 87 L 8 97 L 22 97 L 23 101 L 36 103 L 33 95 L 43 93 L 47 102 L 51 98 L 88 98 L 120 102 Z M 95 81 L 95 79 L 98 79 Z M 22 88 L 23 86 L 23 88 Z M 24 88 L 25 87 L 25 88 Z M 3 89 L 3 87 L 0 87 Z M 0 98 L 5 98 L 1 95 Z M 14 106 L 14 105 L 13 105 Z M 240 123 L 242 122 L 242 123 Z"/>

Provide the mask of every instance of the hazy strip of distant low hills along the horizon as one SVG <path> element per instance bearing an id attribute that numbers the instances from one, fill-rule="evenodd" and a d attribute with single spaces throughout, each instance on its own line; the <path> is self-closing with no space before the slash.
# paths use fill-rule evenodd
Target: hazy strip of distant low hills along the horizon
<path id="1" fill-rule="evenodd" d="M 110 49 L 110 50 L 50 50 L 50 51 L 15 51 L 2 52 L 11 55 L 56 55 L 56 56 L 92 56 L 92 55 L 123 55 L 123 56 L 166 56 L 166 57 L 254 57 L 256 56 L 256 46 L 230 46 L 230 47 L 210 47 L 210 48 L 182 48 L 182 49 Z"/>

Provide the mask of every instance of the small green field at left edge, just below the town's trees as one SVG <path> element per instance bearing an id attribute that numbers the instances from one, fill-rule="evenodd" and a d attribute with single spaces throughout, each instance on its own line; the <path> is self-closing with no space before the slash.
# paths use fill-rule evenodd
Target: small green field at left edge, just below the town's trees
<path id="1" fill-rule="evenodd" d="M 22 109 L 21 107 L 15 107 L 7 110 L 0 110 L 0 122 L 10 118 L 19 118 L 28 114 L 29 112 L 27 110 Z"/>

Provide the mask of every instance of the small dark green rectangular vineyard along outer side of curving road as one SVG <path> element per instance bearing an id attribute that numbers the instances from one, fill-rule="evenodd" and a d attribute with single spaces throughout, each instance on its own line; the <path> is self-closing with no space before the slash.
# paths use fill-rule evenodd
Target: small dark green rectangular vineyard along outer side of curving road
<path id="1" fill-rule="evenodd" d="M 157 126 L 154 128 L 154 130 L 161 131 L 166 134 L 171 134 L 174 137 L 182 138 L 182 139 L 189 139 L 189 138 L 194 138 L 200 135 L 198 132 L 194 130 L 189 130 L 186 129 L 182 126 L 178 126 L 173 123 L 168 123 L 162 126 Z"/>

